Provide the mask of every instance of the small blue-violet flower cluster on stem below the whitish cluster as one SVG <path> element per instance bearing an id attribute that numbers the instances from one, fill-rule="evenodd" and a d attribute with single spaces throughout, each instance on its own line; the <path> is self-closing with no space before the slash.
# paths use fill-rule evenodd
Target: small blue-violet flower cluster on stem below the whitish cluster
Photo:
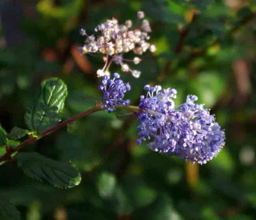
<path id="1" fill-rule="evenodd" d="M 102 77 L 101 84 L 98 89 L 102 91 L 102 109 L 106 109 L 106 112 L 112 112 L 115 110 L 115 105 L 130 105 L 130 100 L 124 101 L 124 93 L 130 91 L 131 86 L 119 79 L 118 73 L 113 74 L 113 79 L 110 79 L 108 75 Z"/>

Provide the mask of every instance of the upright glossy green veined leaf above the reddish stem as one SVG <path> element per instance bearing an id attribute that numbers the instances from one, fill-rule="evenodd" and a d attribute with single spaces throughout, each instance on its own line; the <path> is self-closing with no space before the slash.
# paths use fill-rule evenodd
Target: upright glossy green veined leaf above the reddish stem
<path id="1" fill-rule="evenodd" d="M 67 86 L 59 78 L 51 78 L 41 83 L 37 99 L 25 114 L 25 122 L 33 131 L 45 131 L 61 121 Z"/>

